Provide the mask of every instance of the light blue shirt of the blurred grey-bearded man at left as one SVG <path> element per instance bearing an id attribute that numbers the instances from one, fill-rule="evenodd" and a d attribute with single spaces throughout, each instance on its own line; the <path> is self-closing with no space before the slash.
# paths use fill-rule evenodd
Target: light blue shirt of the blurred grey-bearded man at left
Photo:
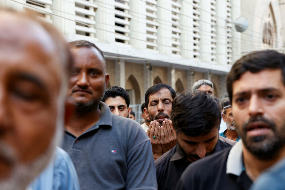
<path id="1" fill-rule="evenodd" d="M 80 190 L 76 170 L 68 153 L 56 147 L 54 158 L 28 187 L 32 190 Z"/>

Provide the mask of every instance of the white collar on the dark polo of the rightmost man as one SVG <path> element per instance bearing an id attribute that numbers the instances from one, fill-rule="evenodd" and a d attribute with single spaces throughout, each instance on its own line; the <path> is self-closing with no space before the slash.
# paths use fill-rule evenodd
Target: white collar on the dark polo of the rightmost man
<path id="1" fill-rule="evenodd" d="M 231 148 L 227 159 L 227 174 L 240 176 L 243 171 L 243 143 L 239 140 Z"/>

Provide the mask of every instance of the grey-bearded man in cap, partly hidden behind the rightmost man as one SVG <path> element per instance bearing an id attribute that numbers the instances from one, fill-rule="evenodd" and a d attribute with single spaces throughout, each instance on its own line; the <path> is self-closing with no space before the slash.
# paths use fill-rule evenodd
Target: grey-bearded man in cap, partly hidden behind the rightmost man
<path id="1" fill-rule="evenodd" d="M 237 127 L 235 126 L 235 122 L 233 120 L 233 114 L 231 110 L 231 101 L 229 98 L 225 98 L 221 102 L 222 109 L 222 118 L 223 121 L 227 125 L 227 129 L 220 133 L 219 135 L 228 139 L 231 139 L 233 141 L 239 141 L 240 137 L 239 134 L 237 134 Z"/>

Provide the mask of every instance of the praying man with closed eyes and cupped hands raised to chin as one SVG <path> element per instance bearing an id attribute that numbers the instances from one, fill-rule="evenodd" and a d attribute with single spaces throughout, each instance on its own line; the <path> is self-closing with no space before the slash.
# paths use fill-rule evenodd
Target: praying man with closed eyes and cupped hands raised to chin
<path id="1" fill-rule="evenodd" d="M 152 145 L 154 160 L 176 144 L 176 136 L 170 120 L 172 101 L 176 92 L 167 84 L 156 84 L 147 89 L 144 96 L 144 114 L 151 121 L 147 135 Z"/>

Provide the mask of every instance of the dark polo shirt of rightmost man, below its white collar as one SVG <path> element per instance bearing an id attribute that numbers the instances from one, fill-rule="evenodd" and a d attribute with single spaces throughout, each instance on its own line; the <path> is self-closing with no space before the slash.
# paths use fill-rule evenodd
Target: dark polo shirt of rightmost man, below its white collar
<path id="1" fill-rule="evenodd" d="M 252 181 L 244 169 L 240 175 L 226 173 L 230 150 L 231 148 L 224 149 L 189 165 L 181 175 L 176 189 L 249 189 Z"/>

